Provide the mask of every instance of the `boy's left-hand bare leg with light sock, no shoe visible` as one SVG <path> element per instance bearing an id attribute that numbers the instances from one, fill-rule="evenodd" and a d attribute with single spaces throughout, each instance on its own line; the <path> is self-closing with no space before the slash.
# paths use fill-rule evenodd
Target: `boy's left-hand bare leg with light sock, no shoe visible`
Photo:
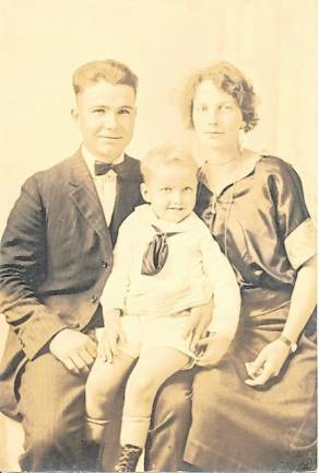
<path id="1" fill-rule="evenodd" d="M 107 424 L 113 422 L 122 384 L 135 359 L 123 351 L 113 362 L 96 358 L 85 387 L 86 438 L 101 442 Z"/>

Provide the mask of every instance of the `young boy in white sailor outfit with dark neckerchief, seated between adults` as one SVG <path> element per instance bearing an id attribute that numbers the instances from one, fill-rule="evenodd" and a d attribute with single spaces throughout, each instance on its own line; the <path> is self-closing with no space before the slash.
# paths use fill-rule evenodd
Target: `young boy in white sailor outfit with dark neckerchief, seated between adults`
<path id="1" fill-rule="evenodd" d="M 240 308 L 235 275 L 193 214 L 198 168 L 182 149 L 162 147 L 142 161 L 149 204 L 122 223 L 102 296 L 105 328 L 86 383 L 87 432 L 98 439 L 123 379 L 122 453 L 116 471 L 134 471 L 158 388 L 198 360 L 184 339 L 190 309 L 214 297 L 209 331 L 228 345 Z M 220 346 L 216 344 L 216 347 Z M 220 350 L 220 348 L 216 348 Z M 222 356 L 215 353 L 215 361 Z M 108 361 L 108 362 L 105 362 Z"/>

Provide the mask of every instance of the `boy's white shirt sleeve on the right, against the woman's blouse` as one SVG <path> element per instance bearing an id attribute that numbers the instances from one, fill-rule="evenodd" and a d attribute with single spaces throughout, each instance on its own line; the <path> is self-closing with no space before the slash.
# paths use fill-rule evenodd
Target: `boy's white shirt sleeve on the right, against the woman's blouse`
<path id="1" fill-rule="evenodd" d="M 214 309 L 208 330 L 232 339 L 240 313 L 240 290 L 235 273 L 209 231 L 202 238 L 201 252 L 204 273 L 213 284 Z"/>

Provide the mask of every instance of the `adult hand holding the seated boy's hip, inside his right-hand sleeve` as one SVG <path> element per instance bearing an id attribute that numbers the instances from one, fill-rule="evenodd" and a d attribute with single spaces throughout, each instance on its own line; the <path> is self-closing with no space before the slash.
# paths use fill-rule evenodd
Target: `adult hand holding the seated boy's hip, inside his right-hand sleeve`
<path id="1" fill-rule="evenodd" d="M 191 335 L 190 349 L 194 351 L 198 342 L 208 332 L 208 326 L 212 319 L 213 312 L 213 300 L 211 299 L 208 303 L 203 305 L 198 305 L 190 309 L 190 315 L 188 323 L 184 330 L 182 338 L 188 338 Z"/>

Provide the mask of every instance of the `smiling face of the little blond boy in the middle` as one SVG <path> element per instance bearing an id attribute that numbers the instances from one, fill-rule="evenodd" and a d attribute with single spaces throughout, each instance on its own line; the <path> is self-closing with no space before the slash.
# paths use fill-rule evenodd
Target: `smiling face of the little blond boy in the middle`
<path id="1" fill-rule="evenodd" d="M 147 182 L 141 185 L 141 191 L 156 217 L 180 222 L 194 207 L 197 184 L 193 168 L 168 164 L 151 172 Z"/>

